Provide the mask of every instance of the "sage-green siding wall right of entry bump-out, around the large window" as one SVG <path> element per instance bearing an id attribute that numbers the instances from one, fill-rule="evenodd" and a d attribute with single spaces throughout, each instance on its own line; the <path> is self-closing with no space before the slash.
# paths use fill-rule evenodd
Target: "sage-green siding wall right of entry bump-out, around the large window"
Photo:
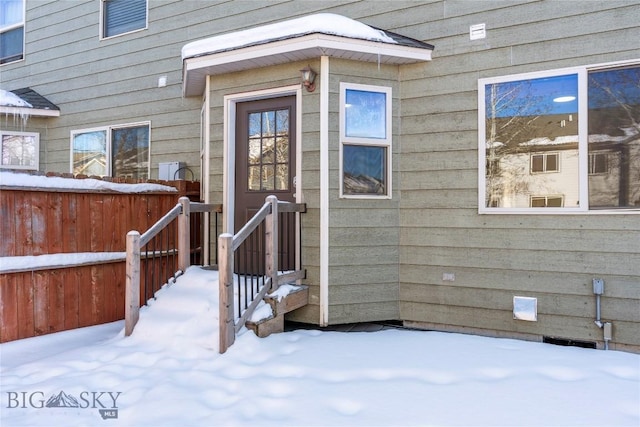
<path id="1" fill-rule="evenodd" d="M 478 214 L 477 97 L 479 78 L 640 58 L 640 4 L 446 1 L 405 16 L 393 30 L 436 49 L 427 66 L 401 71 L 401 319 L 602 347 L 594 324 L 598 277 L 605 280 L 602 316 L 613 323 L 612 346 L 637 350 L 637 213 Z M 426 22 L 411 24 L 411 16 Z M 479 23 L 487 37 L 470 41 L 469 25 Z M 455 281 L 443 280 L 445 273 Z M 538 299 L 537 322 L 513 319 L 514 296 Z"/>

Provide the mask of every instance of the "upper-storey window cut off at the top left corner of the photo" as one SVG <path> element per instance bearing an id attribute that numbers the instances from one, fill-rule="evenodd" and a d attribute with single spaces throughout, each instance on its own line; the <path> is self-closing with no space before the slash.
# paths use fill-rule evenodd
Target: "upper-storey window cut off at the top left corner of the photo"
<path id="1" fill-rule="evenodd" d="M 0 0 L 0 64 L 24 59 L 25 0 Z"/>

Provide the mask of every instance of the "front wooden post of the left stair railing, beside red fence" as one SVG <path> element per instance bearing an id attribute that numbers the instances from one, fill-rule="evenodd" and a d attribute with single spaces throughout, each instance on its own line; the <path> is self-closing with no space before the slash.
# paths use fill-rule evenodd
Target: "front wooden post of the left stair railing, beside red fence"
<path id="1" fill-rule="evenodd" d="M 127 278 L 125 283 L 124 334 L 131 335 L 140 317 L 140 233 L 127 233 Z"/>

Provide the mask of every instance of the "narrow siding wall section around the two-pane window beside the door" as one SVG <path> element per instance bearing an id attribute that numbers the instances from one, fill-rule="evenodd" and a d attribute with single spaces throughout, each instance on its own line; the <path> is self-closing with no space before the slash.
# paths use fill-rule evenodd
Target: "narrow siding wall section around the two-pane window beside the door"
<path id="1" fill-rule="evenodd" d="M 399 68 L 329 60 L 329 324 L 398 319 Z M 390 199 L 340 198 L 340 83 L 390 87 Z"/>

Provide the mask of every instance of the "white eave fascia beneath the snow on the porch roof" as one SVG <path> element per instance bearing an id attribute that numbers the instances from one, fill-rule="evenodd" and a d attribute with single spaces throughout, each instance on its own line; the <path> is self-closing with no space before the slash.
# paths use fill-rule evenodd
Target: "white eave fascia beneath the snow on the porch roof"
<path id="1" fill-rule="evenodd" d="M 381 64 L 410 64 L 431 60 L 432 49 L 403 46 L 327 34 L 309 34 L 291 39 L 213 52 L 183 61 L 183 95 L 202 95 L 207 75 L 301 61 L 319 56 L 354 59 Z"/>

